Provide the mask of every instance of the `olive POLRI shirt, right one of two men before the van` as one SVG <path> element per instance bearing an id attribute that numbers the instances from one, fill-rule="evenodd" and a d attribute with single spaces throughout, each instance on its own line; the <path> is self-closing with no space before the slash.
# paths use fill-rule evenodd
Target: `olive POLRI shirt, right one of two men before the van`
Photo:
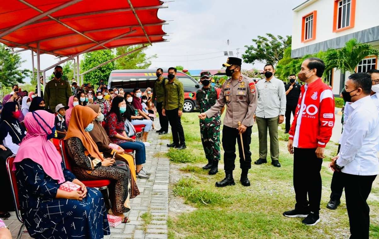
<path id="1" fill-rule="evenodd" d="M 184 104 L 184 88 L 183 83 L 175 78 L 171 83 L 164 83 L 164 100 L 163 108 L 167 110 L 179 108 L 183 109 Z"/>

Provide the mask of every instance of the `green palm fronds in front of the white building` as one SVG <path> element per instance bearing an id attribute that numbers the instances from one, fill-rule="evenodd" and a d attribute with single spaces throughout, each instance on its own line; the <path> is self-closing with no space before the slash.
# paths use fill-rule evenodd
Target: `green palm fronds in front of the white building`
<path id="1" fill-rule="evenodd" d="M 379 55 L 379 51 L 371 44 L 358 42 L 357 39 L 350 39 L 345 46 L 340 49 L 327 50 L 322 59 L 330 66 L 336 67 L 342 73 L 356 72 L 356 66 L 366 56 Z"/>

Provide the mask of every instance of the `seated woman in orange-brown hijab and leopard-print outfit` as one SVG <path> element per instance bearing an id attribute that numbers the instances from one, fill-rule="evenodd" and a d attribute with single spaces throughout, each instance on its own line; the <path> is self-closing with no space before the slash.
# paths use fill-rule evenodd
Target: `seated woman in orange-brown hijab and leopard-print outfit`
<path id="1" fill-rule="evenodd" d="M 127 167 L 114 167 L 115 160 L 104 158 L 99 152 L 96 143 L 89 135 L 94 127 L 94 120 L 98 116 L 91 108 L 75 106 L 72 109 L 70 126 L 66 140 L 67 152 L 74 161 L 72 171 L 80 179 L 111 179 L 110 198 L 113 202 L 112 212 L 122 218 L 122 223 L 130 222 L 124 212 L 130 210 L 130 172 Z"/>

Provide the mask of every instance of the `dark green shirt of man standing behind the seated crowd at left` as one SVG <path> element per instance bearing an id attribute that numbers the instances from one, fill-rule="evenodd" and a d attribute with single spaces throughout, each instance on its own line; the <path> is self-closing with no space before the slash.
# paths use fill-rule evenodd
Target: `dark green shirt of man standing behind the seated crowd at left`
<path id="1" fill-rule="evenodd" d="M 69 97 L 72 95 L 70 84 L 65 80 L 51 80 L 45 86 L 44 100 L 46 108 L 50 108 L 53 112 L 55 106 L 63 104 L 67 106 Z"/>

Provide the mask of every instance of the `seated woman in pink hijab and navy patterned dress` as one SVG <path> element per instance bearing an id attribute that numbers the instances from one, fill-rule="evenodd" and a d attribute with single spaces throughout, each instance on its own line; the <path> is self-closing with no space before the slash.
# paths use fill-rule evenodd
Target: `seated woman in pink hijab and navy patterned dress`
<path id="1" fill-rule="evenodd" d="M 106 208 L 100 191 L 86 187 L 64 167 L 50 139 L 54 115 L 44 110 L 25 116 L 27 135 L 14 159 L 21 216 L 33 238 L 103 238 L 109 235 Z M 60 189 L 70 181 L 80 191 Z"/>

